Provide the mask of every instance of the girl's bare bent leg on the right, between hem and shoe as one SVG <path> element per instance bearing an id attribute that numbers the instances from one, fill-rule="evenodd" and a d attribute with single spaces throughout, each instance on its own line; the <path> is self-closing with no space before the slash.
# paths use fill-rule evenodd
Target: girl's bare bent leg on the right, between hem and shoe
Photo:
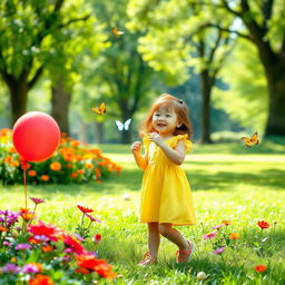
<path id="1" fill-rule="evenodd" d="M 180 250 L 189 249 L 188 242 L 177 229 L 173 228 L 171 224 L 161 223 L 158 225 L 158 230 L 164 237 L 176 244 Z"/>

